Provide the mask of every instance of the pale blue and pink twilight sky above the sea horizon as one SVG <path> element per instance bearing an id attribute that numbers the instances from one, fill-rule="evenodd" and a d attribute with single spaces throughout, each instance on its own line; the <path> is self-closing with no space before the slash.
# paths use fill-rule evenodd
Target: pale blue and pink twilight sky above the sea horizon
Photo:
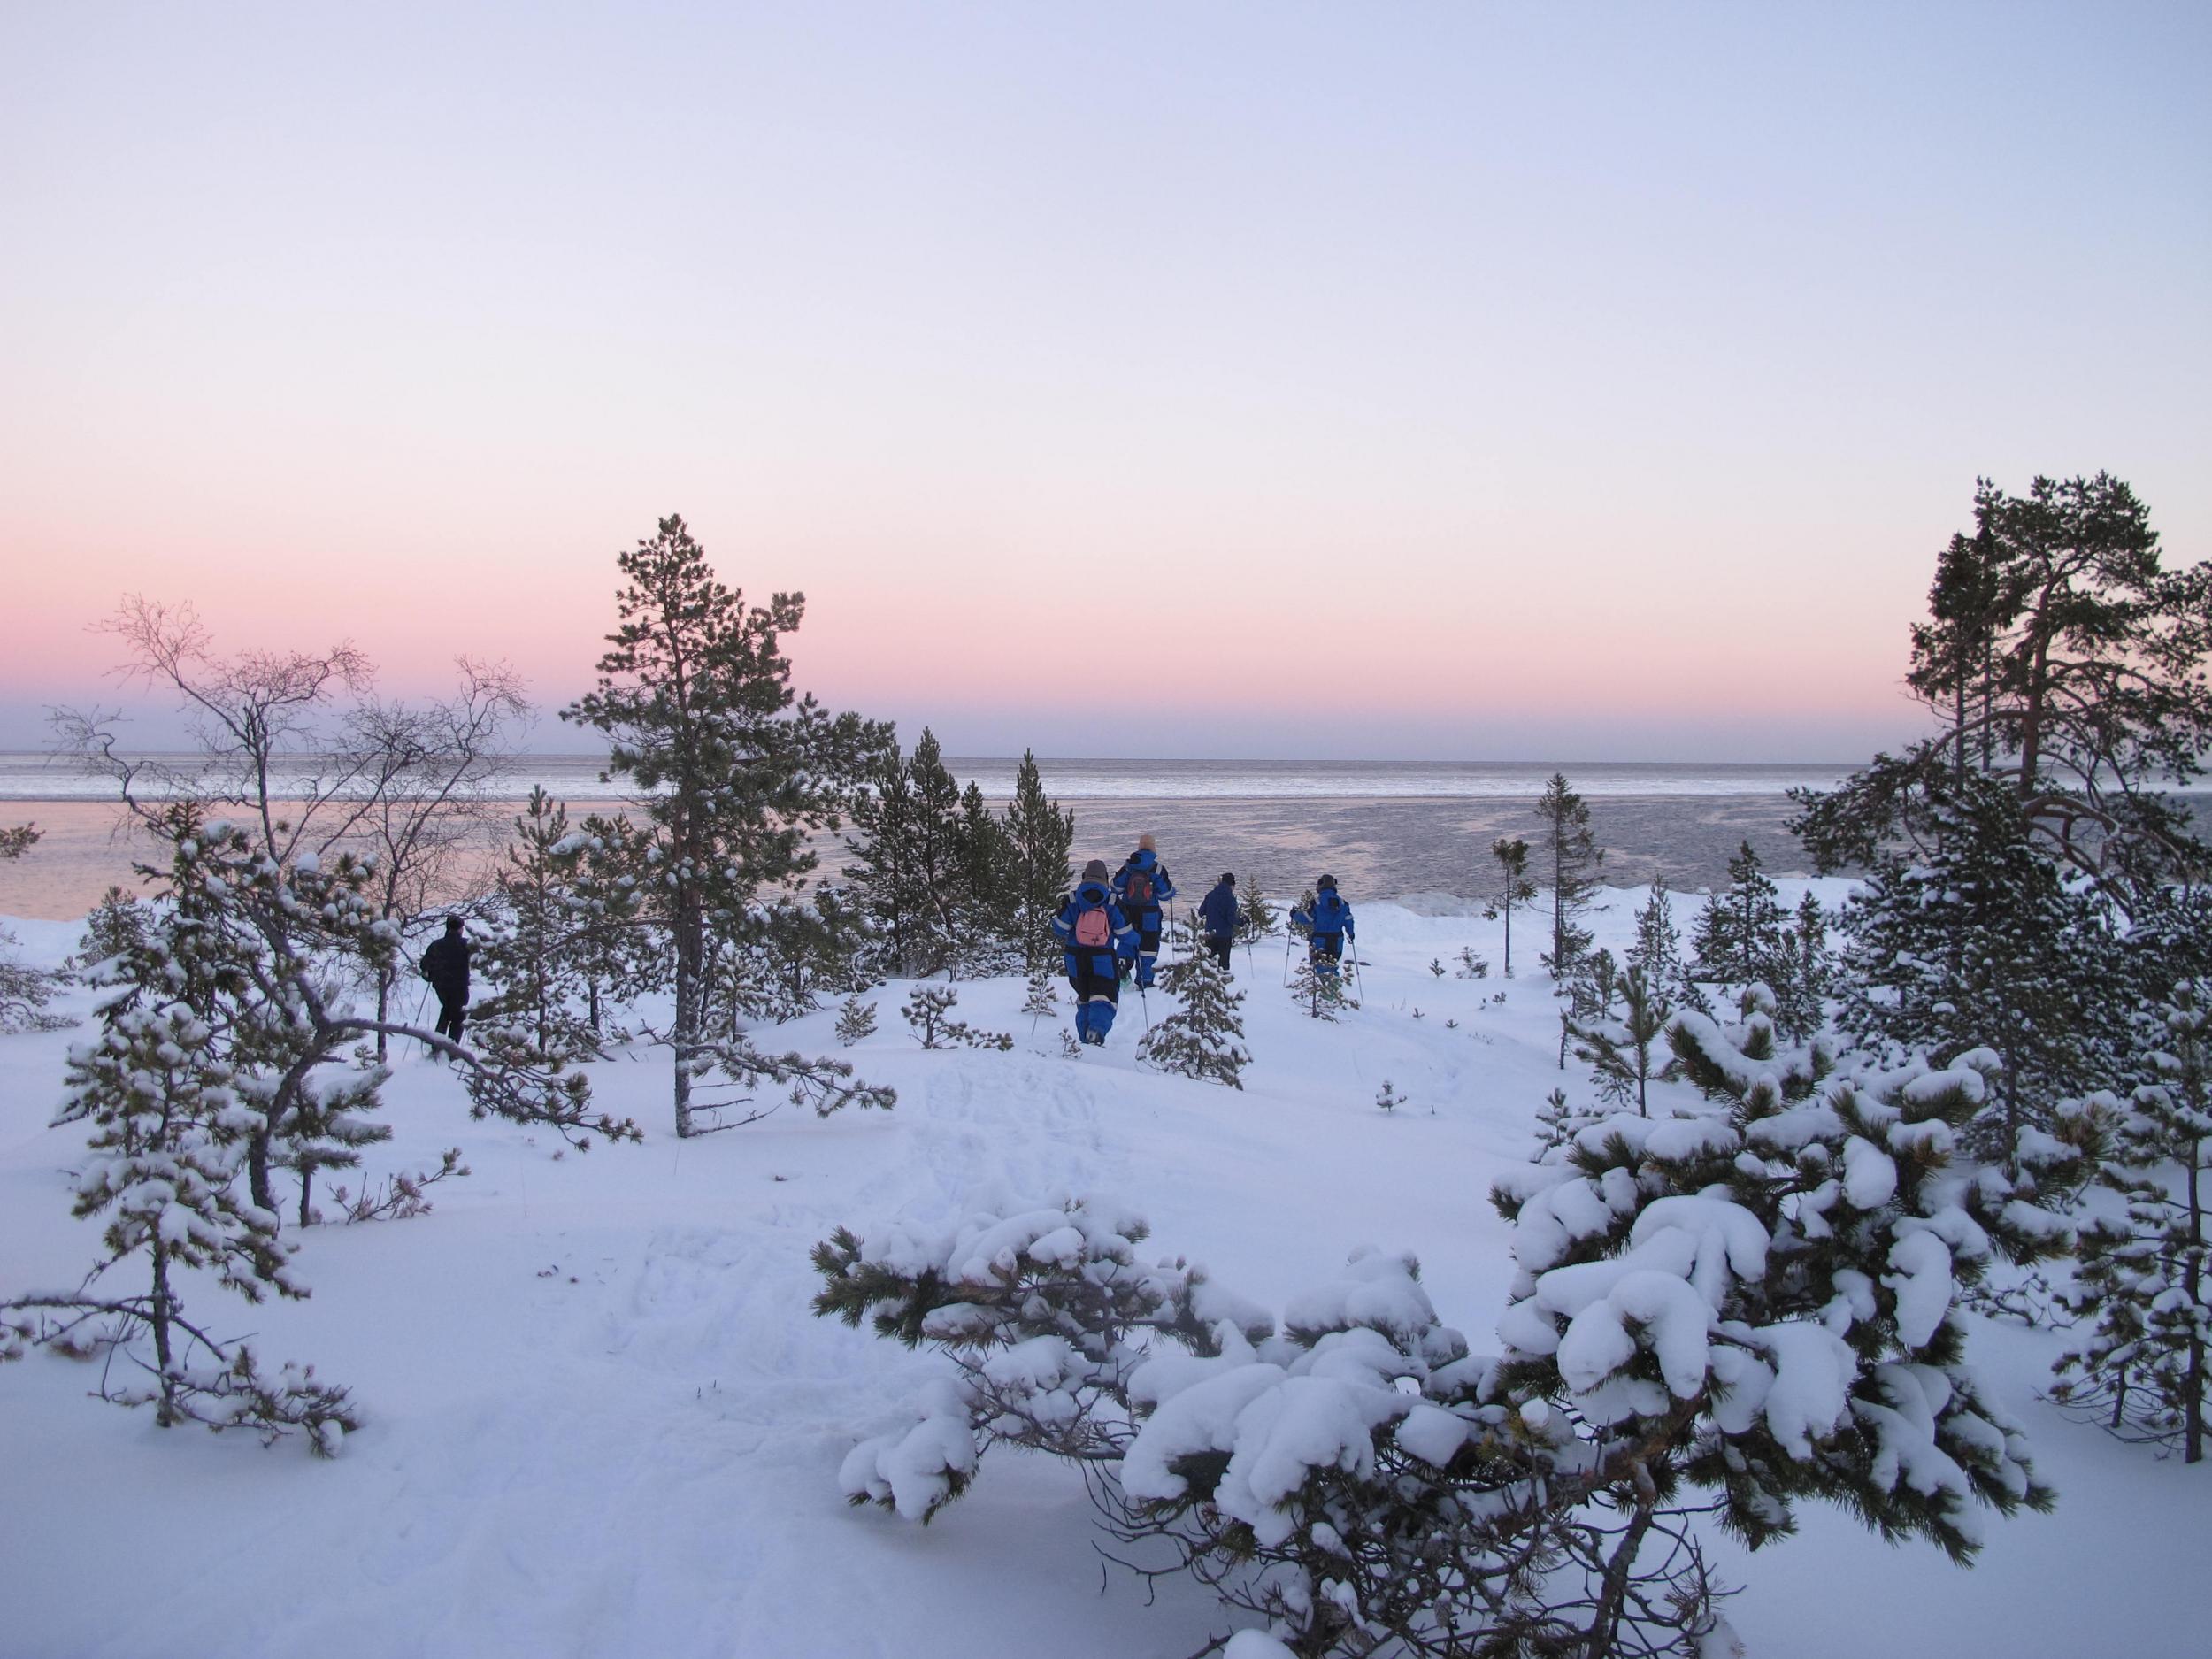
<path id="1" fill-rule="evenodd" d="M 947 750 L 1854 759 L 1975 476 L 2212 553 L 2212 13 L 13 9 L 0 748 L 126 593 Z M 148 723 L 159 730 L 159 721 Z"/>

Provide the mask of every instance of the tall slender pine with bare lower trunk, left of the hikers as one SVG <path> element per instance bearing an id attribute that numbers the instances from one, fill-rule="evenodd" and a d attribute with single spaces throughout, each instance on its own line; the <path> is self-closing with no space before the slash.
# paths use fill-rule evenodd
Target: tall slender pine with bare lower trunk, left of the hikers
<path id="1" fill-rule="evenodd" d="M 606 776 L 635 790 L 639 858 L 622 876 L 637 896 L 633 920 L 661 945 L 675 982 L 668 1051 L 677 1135 L 734 1128 L 772 1110 L 752 1108 L 750 1095 L 701 1099 L 697 1084 L 714 1068 L 739 1088 L 787 1086 L 816 1113 L 854 1102 L 889 1106 L 891 1093 L 854 1084 L 845 1062 L 765 1055 L 706 1029 L 712 929 L 763 889 L 814 869 L 807 836 L 838 827 L 887 732 L 792 690 L 781 637 L 799 628 L 805 599 L 776 593 L 748 608 L 739 591 L 714 580 L 681 518 L 664 518 L 617 562 L 622 622 L 599 657 L 597 690 L 562 719 L 606 737 Z"/>

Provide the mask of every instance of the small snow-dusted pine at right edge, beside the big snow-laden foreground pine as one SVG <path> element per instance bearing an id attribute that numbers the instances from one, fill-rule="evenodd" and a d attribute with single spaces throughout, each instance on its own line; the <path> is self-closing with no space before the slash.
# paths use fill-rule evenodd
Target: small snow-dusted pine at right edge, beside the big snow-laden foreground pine
<path id="1" fill-rule="evenodd" d="M 2097 1186 L 2119 1214 L 2081 1228 L 2073 1292 L 2081 1323 L 2051 1394 L 2112 1433 L 2205 1455 L 2212 1391 L 2212 984 L 2192 982 L 2157 1009 L 2150 1064 L 2159 1073 L 2128 1102 L 2099 1097 L 2108 1150 Z"/>

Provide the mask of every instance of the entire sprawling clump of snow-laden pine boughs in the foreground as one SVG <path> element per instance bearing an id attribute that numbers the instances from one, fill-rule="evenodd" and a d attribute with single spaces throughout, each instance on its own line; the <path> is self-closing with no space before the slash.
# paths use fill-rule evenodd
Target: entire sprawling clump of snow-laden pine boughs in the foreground
<path id="1" fill-rule="evenodd" d="M 949 1360 L 845 1460 L 847 1498 L 922 1520 L 989 1447 L 1051 1451 L 1117 1559 L 1192 1573 L 1301 1659 L 1725 1652 L 1701 1515 L 1759 1546 L 1820 1500 L 1971 1559 L 1978 1511 L 2051 1491 L 1964 1365 L 1955 1296 L 2066 1248 L 2035 1177 L 2077 1150 L 2017 1179 L 1955 1155 L 1989 1053 L 1847 1055 L 1816 1086 L 1677 1031 L 1725 1108 L 1586 1126 L 1495 1192 L 1520 1270 L 1495 1358 L 1407 1256 L 1356 1252 L 1276 1329 L 1088 1201 L 841 1230 L 816 1312 Z"/>

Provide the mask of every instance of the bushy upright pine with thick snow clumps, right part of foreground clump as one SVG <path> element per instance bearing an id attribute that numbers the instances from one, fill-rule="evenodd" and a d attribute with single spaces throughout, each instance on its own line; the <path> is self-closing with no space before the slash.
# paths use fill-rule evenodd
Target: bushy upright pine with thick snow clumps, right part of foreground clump
<path id="1" fill-rule="evenodd" d="M 2053 1144 L 2022 1179 L 1962 1164 L 1986 1048 L 1947 1071 L 1854 1055 L 1792 1104 L 1710 1020 L 1683 1015 L 1677 1046 L 1728 1091 L 1721 1115 L 1610 1119 L 1566 1170 L 1493 1194 L 1520 1263 L 1493 1387 L 1599 1436 L 1628 1535 L 1717 1502 L 1756 1548 L 1823 1500 L 1966 1562 L 1978 1504 L 2048 1509 L 1955 1296 L 2066 1248 L 2035 1177 L 2068 1179 L 2077 1152 Z"/>

